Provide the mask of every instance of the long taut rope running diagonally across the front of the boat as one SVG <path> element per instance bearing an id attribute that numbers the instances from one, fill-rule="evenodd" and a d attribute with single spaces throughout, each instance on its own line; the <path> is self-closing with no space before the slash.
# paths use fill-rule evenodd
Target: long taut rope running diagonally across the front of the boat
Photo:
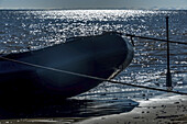
<path id="1" fill-rule="evenodd" d="M 61 69 L 56 69 L 56 68 L 52 68 L 52 67 L 45 67 L 45 66 L 41 66 L 41 65 L 36 65 L 36 64 L 30 64 L 30 63 L 26 63 L 26 61 L 20 61 L 20 60 L 15 60 L 15 59 L 2 57 L 2 56 L 0 56 L 0 58 L 4 59 L 4 60 L 9 60 L 9 61 L 26 65 L 26 66 L 32 66 L 32 67 L 36 67 L 36 68 L 42 68 L 42 69 L 46 69 L 46 70 L 57 71 L 57 72 L 62 72 L 62 74 L 68 74 L 68 75 L 73 75 L 73 76 L 84 77 L 84 78 L 89 78 L 89 79 L 95 79 L 95 80 L 100 80 L 100 81 L 108 81 L 108 82 L 111 82 L 111 83 L 131 86 L 131 87 L 136 87 L 136 88 L 148 89 L 148 90 L 156 90 L 156 91 L 163 91 L 163 92 L 170 92 L 170 93 L 187 95 L 187 93 L 185 93 L 185 92 L 178 92 L 178 91 L 173 91 L 173 90 L 165 90 L 165 89 L 158 89 L 158 88 L 153 88 L 153 87 L 139 86 L 139 84 L 133 84 L 133 83 L 116 81 L 116 80 L 109 80 L 109 79 L 94 77 L 94 76 L 89 76 L 89 75 L 72 72 L 72 71 L 67 71 L 67 70 L 61 70 Z"/>

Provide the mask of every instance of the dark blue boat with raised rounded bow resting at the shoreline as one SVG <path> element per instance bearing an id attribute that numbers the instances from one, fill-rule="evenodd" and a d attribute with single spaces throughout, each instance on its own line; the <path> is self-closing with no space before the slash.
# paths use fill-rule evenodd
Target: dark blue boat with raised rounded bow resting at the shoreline
<path id="1" fill-rule="evenodd" d="M 102 81 L 47 68 L 110 79 L 128 67 L 132 58 L 132 45 L 113 32 L 69 38 L 43 49 L 1 55 L 0 97 L 15 100 L 74 97 Z"/>

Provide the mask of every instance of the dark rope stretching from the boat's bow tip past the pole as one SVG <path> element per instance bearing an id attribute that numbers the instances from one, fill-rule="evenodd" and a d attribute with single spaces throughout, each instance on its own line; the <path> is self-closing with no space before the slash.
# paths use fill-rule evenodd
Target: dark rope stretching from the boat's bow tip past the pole
<path id="1" fill-rule="evenodd" d="M 158 40 L 158 38 L 152 38 L 152 37 L 145 37 L 145 36 L 136 36 L 136 35 L 132 35 L 132 34 L 127 34 L 127 36 L 139 37 L 139 38 L 144 38 L 144 40 L 154 40 L 154 41 L 160 41 L 160 42 L 167 42 L 167 40 Z M 168 41 L 168 42 L 187 45 L 187 43 L 185 43 L 185 42 L 175 42 L 175 41 Z"/>

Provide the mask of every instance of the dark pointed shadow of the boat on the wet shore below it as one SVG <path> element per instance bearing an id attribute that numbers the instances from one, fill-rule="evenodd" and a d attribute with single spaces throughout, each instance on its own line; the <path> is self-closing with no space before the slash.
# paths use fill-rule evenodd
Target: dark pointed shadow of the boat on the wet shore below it
<path id="1" fill-rule="evenodd" d="M 0 105 L 0 120 L 38 117 L 90 117 L 130 112 L 139 103 L 132 100 L 72 100 L 40 105 Z"/>

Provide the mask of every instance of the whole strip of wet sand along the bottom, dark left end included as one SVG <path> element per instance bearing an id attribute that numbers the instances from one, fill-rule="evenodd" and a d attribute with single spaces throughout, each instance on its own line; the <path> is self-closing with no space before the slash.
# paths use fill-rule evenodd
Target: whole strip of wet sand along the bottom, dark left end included
<path id="1" fill-rule="evenodd" d="M 187 97 L 164 94 L 139 101 L 131 112 L 99 117 L 1 120 L 0 124 L 186 124 Z"/>

